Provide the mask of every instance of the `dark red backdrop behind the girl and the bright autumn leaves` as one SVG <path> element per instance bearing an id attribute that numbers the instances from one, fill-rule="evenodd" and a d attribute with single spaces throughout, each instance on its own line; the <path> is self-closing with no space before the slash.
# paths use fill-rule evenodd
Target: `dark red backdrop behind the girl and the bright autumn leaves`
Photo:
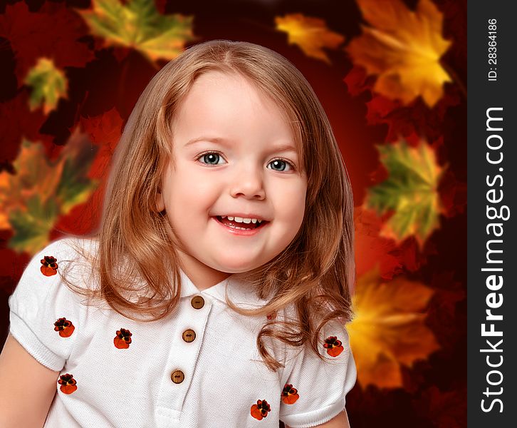
<path id="1" fill-rule="evenodd" d="M 392 141 L 396 133 L 412 128 L 437 143 L 440 164 L 448 165 L 440 192 L 450 210 L 440 228 L 422 250 L 418 268 L 407 276 L 435 290 L 429 304 L 427 325 L 441 346 L 428 360 L 402 367 L 404 387 L 380 389 L 356 384 L 347 396 L 350 424 L 362 427 L 466 427 L 466 203 L 458 183 L 466 183 L 466 98 L 458 97 L 458 86 L 466 83 L 466 1 L 438 0 L 444 14 L 444 37 L 453 41 L 443 62 L 454 71 L 455 83 L 445 85 L 445 97 L 456 103 L 442 103 L 430 113 L 421 102 L 401 108 L 386 123 L 368 125 L 367 90 L 352 95 L 343 78 L 352 69 L 343 49 L 326 50 L 332 64 L 305 56 L 289 45 L 287 35 L 276 31 L 274 17 L 301 12 L 324 19 L 328 28 L 345 36 L 345 46 L 360 35 L 362 18 L 354 1 L 341 0 L 247 0 L 165 1 L 157 0 L 162 13 L 194 15 L 198 41 L 231 39 L 268 46 L 291 60 L 308 78 L 333 126 L 352 180 L 355 205 L 360 206 L 367 188 L 382 180 L 382 168 L 375 144 Z M 382 7 L 382 1 L 379 2 Z M 406 1 L 414 7 L 416 1 Z M 125 121 L 147 82 L 167 61 L 157 66 L 137 51 L 103 48 L 90 36 L 88 26 L 73 8 L 88 9 L 88 0 L 6 1 L 0 5 L 0 168 L 14 173 L 21 138 L 42 141 L 48 156 L 56 156 L 68 136 L 84 118 L 115 108 Z M 78 39 L 77 44 L 57 44 Z M 61 42 L 60 42 L 61 43 Z M 59 46 L 59 49 L 56 49 Z M 33 66 L 38 56 L 50 56 L 66 71 L 68 99 L 56 111 L 44 116 L 29 112 L 29 88 L 19 74 Z M 463 83 L 461 83 L 463 82 Z M 454 105 L 453 105 L 454 104 Z M 441 138 L 441 139 L 440 139 Z M 105 171 L 99 171 L 101 176 Z M 456 190 L 451 190 L 456 189 Z M 447 199 L 449 198 L 449 199 Z M 60 218 L 55 238 L 65 232 L 87 232 L 95 224 L 100 195 L 90 203 Z M 93 213 L 93 215 L 92 215 Z M 7 299 L 29 259 L 7 248 L 10 230 L 0 231 L 0 342 L 9 323 Z M 409 239 L 406 245 L 414 246 Z M 367 258 L 357 254 L 356 258 Z M 358 260 L 358 264 L 361 260 Z M 458 297 L 460 296 L 460 297 Z"/>

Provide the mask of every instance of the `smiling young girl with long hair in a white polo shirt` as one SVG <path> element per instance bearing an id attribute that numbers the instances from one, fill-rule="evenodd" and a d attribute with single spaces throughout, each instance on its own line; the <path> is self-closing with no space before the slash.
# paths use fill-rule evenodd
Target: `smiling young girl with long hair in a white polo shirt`
<path id="1" fill-rule="evenodd" d="M 187 49 L 127 121 L 99 232 L 9 299 L 0 426 L 348 427 L 352 208 L 286 58 Z"/>

